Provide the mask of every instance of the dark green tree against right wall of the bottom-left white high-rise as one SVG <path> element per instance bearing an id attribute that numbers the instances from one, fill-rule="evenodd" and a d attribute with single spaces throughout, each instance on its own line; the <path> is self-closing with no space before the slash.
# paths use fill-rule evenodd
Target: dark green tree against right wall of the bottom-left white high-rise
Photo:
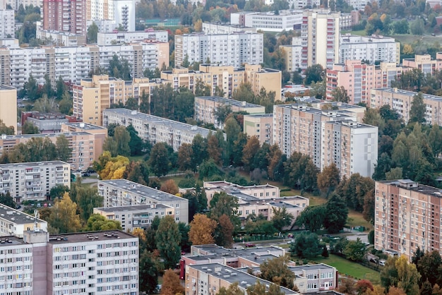
<path id="1" fill-rule="evenodd" d="M 158 284 L 160 270 L 157 265 L 157 257 L 153 253 L 144 250 L 140 254 L 140 291 L 153 294 Z"/>

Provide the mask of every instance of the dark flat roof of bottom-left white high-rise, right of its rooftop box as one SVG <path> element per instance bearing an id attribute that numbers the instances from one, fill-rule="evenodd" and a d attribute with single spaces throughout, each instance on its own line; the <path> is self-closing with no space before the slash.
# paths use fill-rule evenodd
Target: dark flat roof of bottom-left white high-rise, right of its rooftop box
<path id="1" fill-rule="evenodd" d="M 118 241 L 121 239 L 138 239 L 124 231 L 86 231 L 73 234 L 54 234 L 49 236 L 49 243 L 80 243 L 88 241 Z"/>

